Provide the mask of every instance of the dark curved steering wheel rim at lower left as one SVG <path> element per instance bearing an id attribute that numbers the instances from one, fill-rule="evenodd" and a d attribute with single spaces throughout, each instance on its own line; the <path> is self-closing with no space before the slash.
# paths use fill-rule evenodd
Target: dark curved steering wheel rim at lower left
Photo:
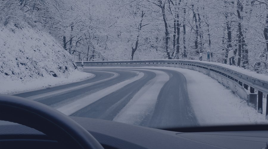
<path id="1" fill-rule="evenodd" d="M 73 119 L 33 100 L 0 94 L 0 120 L 34 128 L 67 148 L 103 149 L 102 145 Z"/>

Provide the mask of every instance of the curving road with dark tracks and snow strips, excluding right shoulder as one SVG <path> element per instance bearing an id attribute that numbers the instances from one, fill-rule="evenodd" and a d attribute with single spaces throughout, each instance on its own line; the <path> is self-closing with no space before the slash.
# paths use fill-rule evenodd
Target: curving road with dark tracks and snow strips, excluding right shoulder
<path id="1" fill-rule="evenodd" d="M 143 126 L 196 123 L 185 77 L 177 71 L 141 68 L 84 68 L 95 77 L 15 94 L 66 115 Z"/>

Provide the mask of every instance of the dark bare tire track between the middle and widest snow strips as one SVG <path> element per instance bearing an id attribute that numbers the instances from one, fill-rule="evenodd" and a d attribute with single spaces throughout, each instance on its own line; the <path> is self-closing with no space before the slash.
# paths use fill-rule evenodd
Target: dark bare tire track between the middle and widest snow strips
<path id="1" fill-rule="evenodd" d="M 119 69 L 119 70 L 133 70 L 136 69 Z M 136 70 L 137 71 L 137 70 Z M 141 79 L 130 83 L 123 88 L 105 96 L 98 101 L 76 111 L 70 116 L 76 117 L 90 117 L 98 119 L 113 120 L 116 115 L 124 108 L 125 105 L 135 96 L 135 94 L 144 87 L 144 85 L 152 80 L 156 74 L 151 71 L 141 70 L 138 71 L 144 73 L 144 77 Z"/>

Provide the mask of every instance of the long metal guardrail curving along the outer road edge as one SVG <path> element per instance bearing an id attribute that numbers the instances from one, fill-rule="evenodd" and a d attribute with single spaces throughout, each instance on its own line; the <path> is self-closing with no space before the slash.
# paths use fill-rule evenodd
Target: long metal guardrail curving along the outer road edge
<path id="1" fill-rule="evenodd" d="M 258 108 L 262 108 L 263 95 L 266 94 L 267 98 L 267 110 L 268 115 L 268 79 L 264 77 L 251 77 L 247 74 L 243 74 L 235 69 L 228 68 L 228 65 L 220 66 L 221 64 L 212 62 L 202 62 L 196 60 L 132 60 L 132 61 L 84 61 L 75 62 L 77 66 L 169 66 L 169 67 L 181 67 L 192 70 L 204 69 L 209 73 L 216 73 L 220 76 L 224 76 L 227 80 L 236 83 L 239 87 L 246 89 L 249 93 L 258 92 Z M 252 74 L 255 74 L 252 72 Z M 254 75 L 253 75 L 254 76 Z M 268 76 L 267 76 L 268 78 Z M 228 82 L 228 81 L 227 81 Z M 257 96 L 256 96 L 257 97 Z M 262 111 L 260 112 L 262 113 Z"/>

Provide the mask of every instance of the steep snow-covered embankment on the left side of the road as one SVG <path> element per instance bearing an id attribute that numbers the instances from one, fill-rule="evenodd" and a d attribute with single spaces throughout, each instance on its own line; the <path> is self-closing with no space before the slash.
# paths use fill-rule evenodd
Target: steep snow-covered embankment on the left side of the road
<path id="1" fill-rule="evenodd" d="M 20 86 L 18 90 L 22 91 L 46 86 L 46 83 L 54 85 L 68 82 L 63 79 L 65 66 L 68 66 L 68 72 L 73 77 L 68 80 L 73 81 L 76 76 L 79 79 L 88 77 L 75 69 L 68 52 L 48 33 L 35 30 L 27 24 L 22 28 L 11 24 L 0 26 L 0 93 L 5 93 L 9 87 L 16 90 L 16 84 Z M 32 82 L 31 86 L 27 86 L 29 82 Z M 9 84 L 13 84 L 13 87 Z"/>

